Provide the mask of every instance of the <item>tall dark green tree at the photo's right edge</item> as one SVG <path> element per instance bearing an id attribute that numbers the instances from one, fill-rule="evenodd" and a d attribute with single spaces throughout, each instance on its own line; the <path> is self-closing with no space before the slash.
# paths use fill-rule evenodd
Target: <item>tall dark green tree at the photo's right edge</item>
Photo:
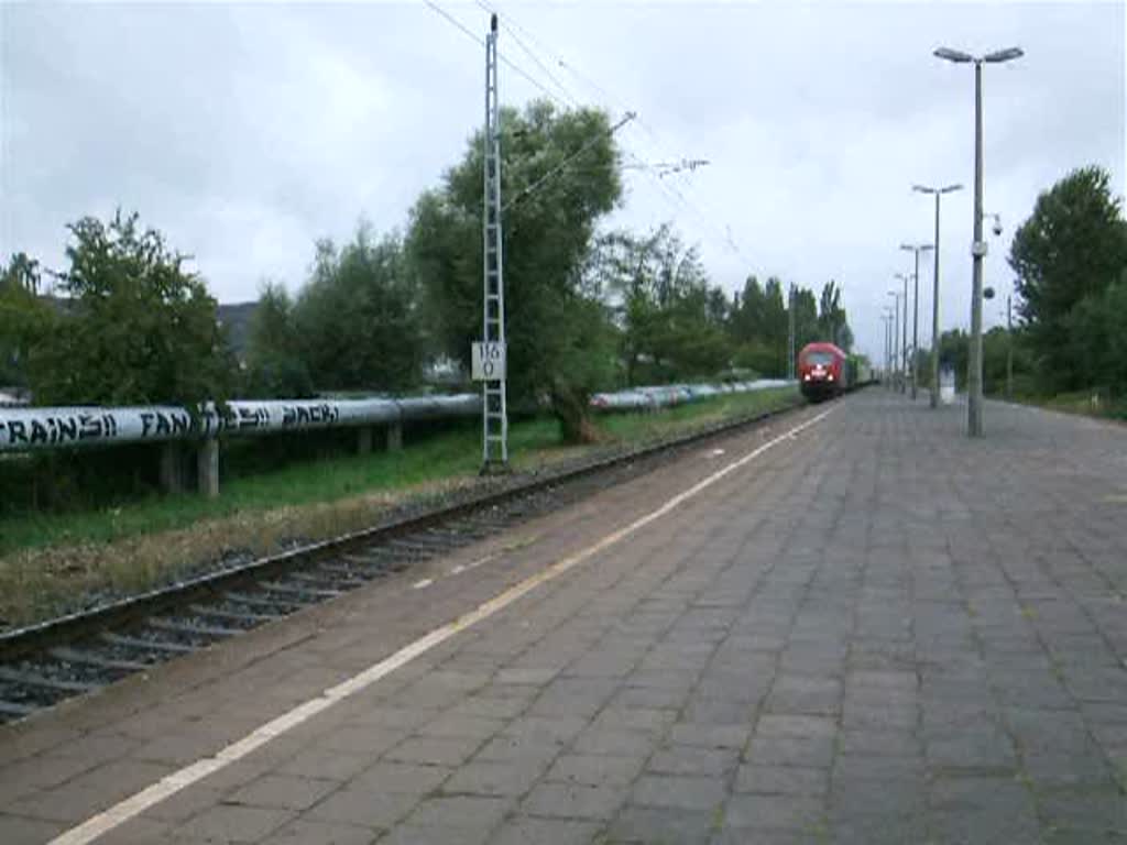
<path id="1" fill-rule="evenodd" d="M 1074 170 L 1037 198 L 1010 247 L 1018 312 L 1054 389 L 1081 386 L 1094 375 L 1070 337 L 1077 326 L 1071 314 L 1127 267 L 1127 222 L 1109 184 L 1099 167 Z"/>

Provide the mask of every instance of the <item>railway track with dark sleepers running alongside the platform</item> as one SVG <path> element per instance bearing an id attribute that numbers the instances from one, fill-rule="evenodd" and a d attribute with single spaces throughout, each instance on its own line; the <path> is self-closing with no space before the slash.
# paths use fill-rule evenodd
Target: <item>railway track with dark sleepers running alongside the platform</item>
<path id="1" fill-rule="evenodd" d="M 456 504 L 0 633 L 0 723 L 237 637 L 642 475 L 702 441 L 800 407 L 745 416 Z"/>

